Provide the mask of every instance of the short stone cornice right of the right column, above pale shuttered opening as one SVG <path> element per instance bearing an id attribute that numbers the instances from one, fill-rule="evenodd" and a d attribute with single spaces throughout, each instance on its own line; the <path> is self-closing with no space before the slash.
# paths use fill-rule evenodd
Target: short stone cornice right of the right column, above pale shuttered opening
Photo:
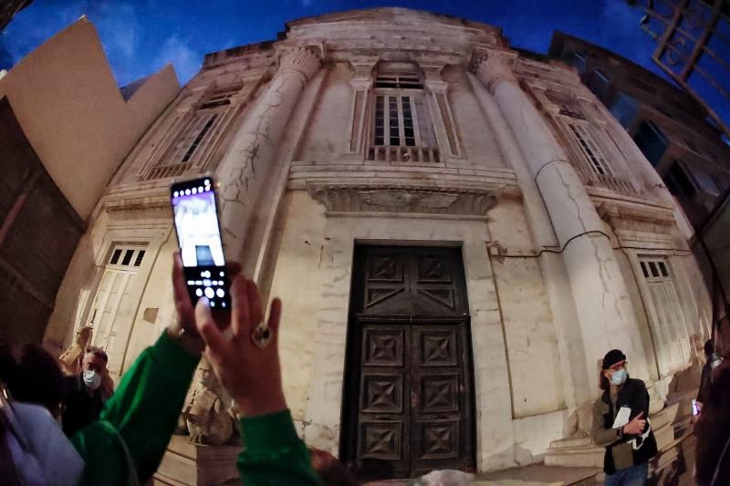
<path id="1" fill-rule="evenodd" d="M 674 213 L 662 208 L 639 208 L 620 203 L 603 202 L 598 212 L 614 232 L 671 234 L 676 222 Z"/>

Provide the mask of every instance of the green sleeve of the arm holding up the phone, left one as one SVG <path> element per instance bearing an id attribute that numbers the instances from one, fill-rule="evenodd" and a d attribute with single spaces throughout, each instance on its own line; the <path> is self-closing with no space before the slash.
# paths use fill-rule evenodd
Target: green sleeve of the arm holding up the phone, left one
<path id="1" fill-rule="evenodd" d="M 142 352 L 104 405 L 99 421 L 71 439 L 87 464 L 83 484 L 134 481 L 125 473 L 129 461 L 139 481 L 151 478 L 172 437 L 198 360 L 166 332 Z"/>

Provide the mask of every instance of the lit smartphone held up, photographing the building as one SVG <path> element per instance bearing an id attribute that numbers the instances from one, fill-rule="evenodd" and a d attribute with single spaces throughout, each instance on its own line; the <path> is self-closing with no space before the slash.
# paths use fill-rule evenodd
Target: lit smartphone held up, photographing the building
<path id="1" fill-rule="evenodd" d="M 213 178 L 176 182 L 171 197 L 185 283 L 193 305 L 205 296 L 214 309 L 230 308 Z"/>

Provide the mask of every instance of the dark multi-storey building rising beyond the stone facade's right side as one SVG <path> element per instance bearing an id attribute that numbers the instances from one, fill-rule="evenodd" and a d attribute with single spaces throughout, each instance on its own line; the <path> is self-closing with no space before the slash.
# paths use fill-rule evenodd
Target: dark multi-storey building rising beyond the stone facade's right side
<path id="1" fill-rule="evenodd" d="M 548 52 L 578 69 L 629 131 L 692 227 L 704 222 L 730 187 L 730 147 L 707 123 L 704 106 L 647 69 L 578 37 L 558 32 Z"/>

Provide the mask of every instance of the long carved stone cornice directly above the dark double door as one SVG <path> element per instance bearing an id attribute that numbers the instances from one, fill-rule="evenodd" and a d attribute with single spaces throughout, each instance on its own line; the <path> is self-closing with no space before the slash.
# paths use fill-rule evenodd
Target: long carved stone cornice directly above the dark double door
<path id="1" fill-rule="evenodd" d="M 308 184 L 328 212 L 408 212 L 486 216 L 502 188 L 438 188 L 418 185 Z"/>

